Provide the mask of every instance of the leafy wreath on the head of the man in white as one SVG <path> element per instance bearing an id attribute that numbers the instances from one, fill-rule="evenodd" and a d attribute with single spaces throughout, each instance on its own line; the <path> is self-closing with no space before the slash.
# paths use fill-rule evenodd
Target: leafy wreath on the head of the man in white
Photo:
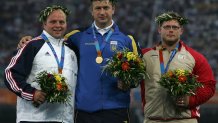
<path id="1" fill-rule="evenodd" d="M 39 14 L 39 22 L 45 22 L 48 16 L 55 10 L 62 10 L 66 16 L 68 16 L 71 12 L 66 7 L 60 6 L 60 5 L 52 5 L 46 7 L 44 10 L 42 10 Z"/>

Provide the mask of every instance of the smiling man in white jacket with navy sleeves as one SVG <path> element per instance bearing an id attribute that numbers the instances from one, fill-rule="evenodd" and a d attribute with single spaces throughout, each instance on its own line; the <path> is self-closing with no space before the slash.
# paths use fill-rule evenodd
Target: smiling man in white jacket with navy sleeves
<path id="1" fill-rule="evenodd" d="M 18 96 L 17 123 L 74 122 L 78 65 L 76 54 L 63 40 L 68 14 L 67 9 L 61 6 L 51 6 L 43 10 L 40 14 L 44 29 L 42 34 L 19 49 L 5 69 L 5 84 Z M 46 94 L 34 82 L 39 72 L 58 73 L 58 68 L 62 69 L 62 75 L 69 85 L 70 104 L 44 102 Z M 33 102 L 40 106 L 34 107 Z"/>

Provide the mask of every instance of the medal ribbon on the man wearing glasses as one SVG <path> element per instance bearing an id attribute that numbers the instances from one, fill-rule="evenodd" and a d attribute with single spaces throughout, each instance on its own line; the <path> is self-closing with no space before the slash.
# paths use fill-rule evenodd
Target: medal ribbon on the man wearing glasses
<path id="1" fill-rule="evenodd" d="M 174 56 L 176 55 L 176 52 L 178 51 L 178 48 L 179 48 L 179 43 L 176 45 L 176 48 L 173 50 L 172 54 L 170 55 L 170 59 L 167 62 L 166 68 L 164 68 L 163 50 L 162 49 L 159 50 L 159 59 L 160 59 L 161 74 L 164 74 L 164 73 L 166 73 L 168 71 L 169 65 L 172 62 Z"/>

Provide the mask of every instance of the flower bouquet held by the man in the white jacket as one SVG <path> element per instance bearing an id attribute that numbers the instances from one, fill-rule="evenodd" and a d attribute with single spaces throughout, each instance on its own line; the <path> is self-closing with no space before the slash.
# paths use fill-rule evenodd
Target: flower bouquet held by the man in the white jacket
<path id="1" fill-rule="evenodd" d="M 35 82 L 46 93 L 48 103 L 67 103 L 71 93 L 65 80 L 61 74 L 42 71 L 37 75 Z"/>

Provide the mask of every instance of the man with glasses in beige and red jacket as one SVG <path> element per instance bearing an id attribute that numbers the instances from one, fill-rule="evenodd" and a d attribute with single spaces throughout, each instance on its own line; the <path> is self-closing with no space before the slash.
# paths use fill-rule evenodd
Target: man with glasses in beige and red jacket
<path id="1" fill-rule="evenodd" d="M 144 123 L 197 123 L 197 118 L 200 117 L 199 106 L 214 95 L 216 81 L 206 58 L 180 40 L 183 23 L 177 20 L 178 15 L 173 12 L 165 14 L 171 18 L 167 16 L 165 20 L 159 22 L 158 32 L 162 41 L 154 48 L 142 49 L 148 75 L 141 84 Z M 175 55 L 172 57 L 173 52 Z M 157 83 L 162 75 L 161 63 L 167 70 L 192 71 L 198 76 L 197 80 L 203 87 L 198 88 L 193 96 L 184 96 L 173 101 L 167 90 Z M 185 110 L 177 114 L 175 110 L 177 106 Z"/>

